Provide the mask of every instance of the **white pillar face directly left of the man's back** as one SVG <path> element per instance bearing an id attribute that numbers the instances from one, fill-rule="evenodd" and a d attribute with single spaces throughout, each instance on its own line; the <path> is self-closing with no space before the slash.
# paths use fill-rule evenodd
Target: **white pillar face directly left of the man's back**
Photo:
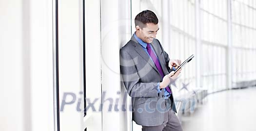
<path id="1" fill-rule="evenodd" d="M 110 8 L 111 7 L 111 8 Z M 120 117 L 114 111 L 120 91 L 118 0 L 101 0 L 102 129 L 119 131 Z M 111 100 L 107 100 L 111 99 Z M 111 107 L 111 108 L 109 108 Z M 109 110 L 110 109 L 110 110 Z M 112 118 L 112 120 L 110 120 Z"/>

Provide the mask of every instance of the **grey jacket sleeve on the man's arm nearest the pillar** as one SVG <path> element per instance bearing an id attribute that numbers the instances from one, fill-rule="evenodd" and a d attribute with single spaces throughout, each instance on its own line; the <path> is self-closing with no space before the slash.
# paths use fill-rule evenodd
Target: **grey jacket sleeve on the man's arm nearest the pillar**
<path id="1" fill-rule="evenodd" d="M 136 68 L 136 58 L 124 49 L 120 49 L 120 73 L 127 93 L 130 97 L 158 97 L 158 82 L 140 82 Z"/>

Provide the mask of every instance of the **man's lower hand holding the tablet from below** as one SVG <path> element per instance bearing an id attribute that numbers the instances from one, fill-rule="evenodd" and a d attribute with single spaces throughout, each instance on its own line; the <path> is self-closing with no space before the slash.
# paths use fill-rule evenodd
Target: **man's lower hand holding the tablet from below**
<path id="1" fill-rule="evenodd" d="M 178 69 L 175 74 L 174 74 L 174 71 L 172 71 L 171 73 L 165 75 L 165 76 L 163 77 L 163 81 L 160 82 L 160 84 L 159 84 L 159 85 L 160 85 L 159 88 L 162 89 L 162 88 L 165 88 L 166 86 L 170 85 L 170 84 L 171 84 L 171 83 L 170 83 L 170 82 L 171 82 L 171 79 L 172 79 L 172 80 L 175 80 L 175 79 L 178 77 L 180 71 L 181 71 L 181 68 Z"/>

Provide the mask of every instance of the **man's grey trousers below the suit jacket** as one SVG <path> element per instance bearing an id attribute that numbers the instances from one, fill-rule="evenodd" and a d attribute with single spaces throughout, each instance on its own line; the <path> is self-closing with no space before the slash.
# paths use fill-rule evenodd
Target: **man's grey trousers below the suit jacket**
<path id="1" fill-rule="evenodd" d="M 183 131 L 177 115 L 172 110 L 171 103 L 171 100 L 165 100 L 167 111 L 164 114 L 164 120 L 161 125 L 154 127 L 142 126 L 142 131 Z"/>

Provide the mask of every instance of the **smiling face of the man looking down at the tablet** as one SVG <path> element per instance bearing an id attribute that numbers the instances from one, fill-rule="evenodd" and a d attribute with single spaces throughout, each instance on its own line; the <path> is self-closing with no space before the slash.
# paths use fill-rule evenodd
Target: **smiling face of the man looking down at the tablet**
<path id="1" fill-rule="evenodd" d="M 136 27 L 136 35 L 145 43 L 151 43 L 154 38 L 157 37 L 157 33 L 159 30 L 158 24 L 147 23 L 146 26 L 142 29 L 140 27 Z"/>

